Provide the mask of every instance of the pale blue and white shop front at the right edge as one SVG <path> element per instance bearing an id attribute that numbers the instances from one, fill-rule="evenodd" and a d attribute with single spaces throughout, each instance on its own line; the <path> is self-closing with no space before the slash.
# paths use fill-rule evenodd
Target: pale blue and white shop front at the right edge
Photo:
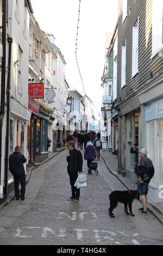
<path id="1" fill-rule="evenodd" d="M 148 157 L 155 173 L 149 184 L 148 197 L 154 202 L 163 202 L 163 97 L 146 105 L 146 133 Z"/>

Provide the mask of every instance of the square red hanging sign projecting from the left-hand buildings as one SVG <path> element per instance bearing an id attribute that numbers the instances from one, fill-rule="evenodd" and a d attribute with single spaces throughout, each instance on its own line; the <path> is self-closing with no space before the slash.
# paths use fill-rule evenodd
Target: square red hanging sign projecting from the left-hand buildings
<path id="1" fill-rule="evenodd" d="M 32 97 L 32 99 L 44 99 L 43 83 L 29 83 L 29 97 Z"/>

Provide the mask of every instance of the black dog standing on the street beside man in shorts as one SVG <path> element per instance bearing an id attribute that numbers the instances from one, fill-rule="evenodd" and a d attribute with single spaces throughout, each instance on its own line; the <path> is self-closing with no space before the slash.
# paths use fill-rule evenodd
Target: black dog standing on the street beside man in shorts
<path id="1" fill-rule="evenodd" d="M 132 203 L 134 199 L 139 200 L 139 197 L 140 195 L 138 190 L 112 191 L 109 196 L 109 199 L 110 199 L 109 215 L 112 218 L 115 218 L 112 211 L 116 208 L 118 202 L 121 202 L 124 204 L 124 211 L 126 212 L 126 214 L 135 216 L 132 212 Z M 129 206 L 130 214 L 128 212 L 128 206 Z"/>

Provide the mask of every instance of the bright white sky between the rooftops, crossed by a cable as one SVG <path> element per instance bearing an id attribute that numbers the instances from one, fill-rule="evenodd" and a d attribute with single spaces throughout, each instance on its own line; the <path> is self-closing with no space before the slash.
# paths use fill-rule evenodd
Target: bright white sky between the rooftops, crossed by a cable
<path id="1" fill-rule="evenodd" d="M 55 37 L 66 60 L 65 78 L 70 87 L 83 91 L 76 62 L 79 0 L 31 0 L 42 31 Z M 101 77 L 105 63 L 106 33 L 114 32 L 118 0 L 81 0 L 77 58 L 87 96 L 101 108 Z"/>

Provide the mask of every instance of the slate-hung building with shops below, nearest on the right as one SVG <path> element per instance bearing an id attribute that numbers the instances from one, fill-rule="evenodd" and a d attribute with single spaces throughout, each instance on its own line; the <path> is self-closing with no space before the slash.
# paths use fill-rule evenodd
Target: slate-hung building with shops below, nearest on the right
<path id="1" fill-rule="evenodd" d="M 163 44 L 162 1 L 119 0 L 117 100 L 118 172 L 136 181 L 134 143 L 147 148 L 155 175 L 149 197 L 162 202 L 163 184 Z"/>

